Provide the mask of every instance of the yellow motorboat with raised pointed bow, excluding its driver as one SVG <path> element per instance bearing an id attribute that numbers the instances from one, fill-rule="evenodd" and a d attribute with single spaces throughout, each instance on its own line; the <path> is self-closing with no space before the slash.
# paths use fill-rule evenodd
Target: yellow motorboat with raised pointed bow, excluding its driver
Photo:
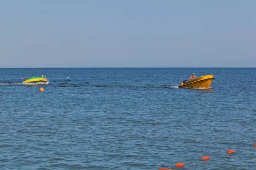
<path id="1" fill-rule="evenodd" d="M 192 80 L 186 80 L 186 77 L 185 77 L 183 82 L 181 82 L 178 87 L 179 88 L 209 88 L 213 80 L 214 80 L 213 75 L 202 76 Z"/>

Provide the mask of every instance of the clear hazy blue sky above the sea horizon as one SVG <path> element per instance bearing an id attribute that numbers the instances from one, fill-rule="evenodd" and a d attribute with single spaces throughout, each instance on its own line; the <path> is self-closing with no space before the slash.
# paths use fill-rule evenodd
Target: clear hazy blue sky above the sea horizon
<path id="1" fill-rule="evenodd" d="M 255 0 L 1 0 L 0 67 L 256 67 Z"/>

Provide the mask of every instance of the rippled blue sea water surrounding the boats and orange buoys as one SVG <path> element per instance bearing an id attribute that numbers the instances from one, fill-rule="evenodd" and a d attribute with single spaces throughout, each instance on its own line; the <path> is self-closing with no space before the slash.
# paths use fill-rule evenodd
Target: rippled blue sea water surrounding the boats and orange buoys
<path id="1" fill-rule="evenodd" d="M 0 68 L 0 169 L 253 170 L 255 115 L 256 68 Z"/>

